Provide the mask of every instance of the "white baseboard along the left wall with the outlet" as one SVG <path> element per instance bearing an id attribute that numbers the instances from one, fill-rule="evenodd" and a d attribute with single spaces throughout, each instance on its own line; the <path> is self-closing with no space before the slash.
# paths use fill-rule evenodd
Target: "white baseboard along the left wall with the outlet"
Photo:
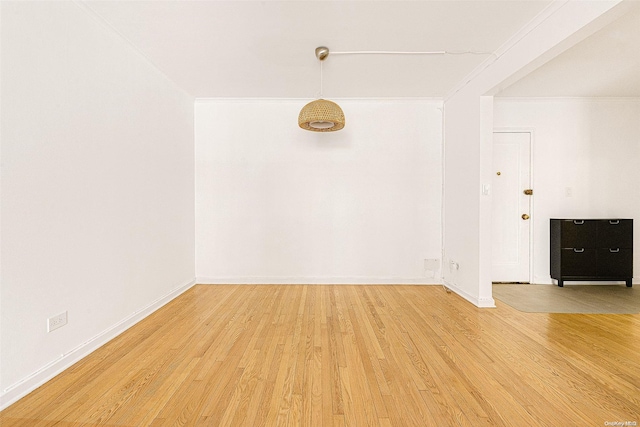
<path id="1" fill-rule="evenodd" d="M 82 358 L 88 356 L 93 351 L 102 347 L 113 338 L 117 337 L 154 311 L 158 310 L 160 307 L 175 299 L 183 292 L 189 290 L 195 284 L 196 279 L 193 279 L 186 284 L 180 285 L 166 295 L 153 301 L 145 308 L 136 311 L 131 316 L 121 320 L 109 329 L 99 333 L 73 350 L 63 354 L 58 359 L 49 362 L 34 373 L 7 387 L 0 395 L 0 411 L 31 393 L 33 390 L 60 374 Z"/>

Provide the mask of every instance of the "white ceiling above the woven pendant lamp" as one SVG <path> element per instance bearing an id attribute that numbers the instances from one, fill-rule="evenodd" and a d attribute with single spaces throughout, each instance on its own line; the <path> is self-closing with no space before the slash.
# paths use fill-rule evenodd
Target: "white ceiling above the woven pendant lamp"
<path id="1" fill-rule="evenodd" d="M 314 98 L 314 50 L 494 52 L 550 2 L 86 1 L 194 97 Z M 323 95 L 442 97 L 489 55 L 329 55 Z"/>

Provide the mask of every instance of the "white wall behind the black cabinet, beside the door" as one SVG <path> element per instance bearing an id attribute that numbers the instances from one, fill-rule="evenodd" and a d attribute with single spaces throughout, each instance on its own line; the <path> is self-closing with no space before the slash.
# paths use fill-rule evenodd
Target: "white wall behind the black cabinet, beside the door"
<path id="1" fill-rule="evenodd" d="M 535 283 L 551 283 L 550 218 L 633 218 L 639 245 L 640 99 L 496 98 L 494 124 L 534 130 Z"/>

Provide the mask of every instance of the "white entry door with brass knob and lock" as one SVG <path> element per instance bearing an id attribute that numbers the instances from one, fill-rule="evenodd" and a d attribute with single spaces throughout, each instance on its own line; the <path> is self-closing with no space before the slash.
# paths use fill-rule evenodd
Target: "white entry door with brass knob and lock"
<path id="1" fill-rule="evenodd" d="M 529 283 L 531 133 L 494 132 L 492 281 Z"/>

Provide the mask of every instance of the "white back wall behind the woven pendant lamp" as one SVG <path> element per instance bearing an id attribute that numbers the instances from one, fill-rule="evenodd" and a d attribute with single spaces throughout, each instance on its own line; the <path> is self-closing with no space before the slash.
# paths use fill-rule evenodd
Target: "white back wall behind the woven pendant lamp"
<path id="1" fill-rule="evenodd" d="M 440 282 L 441 103 L 340 100 L 334 133 L 305 103 L 196 102 L 198 281 Z"/>

